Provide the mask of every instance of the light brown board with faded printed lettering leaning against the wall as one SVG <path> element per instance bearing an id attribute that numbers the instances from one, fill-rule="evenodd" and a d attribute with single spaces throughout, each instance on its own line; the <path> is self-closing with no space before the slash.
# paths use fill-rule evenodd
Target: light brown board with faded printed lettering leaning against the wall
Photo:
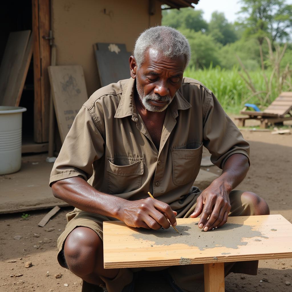
<path id="1" fill-rule="evenodd" d="M 62 143 L 81 106 L 88 99 L 80 65 L 49 66 L 51 91 Z"/>

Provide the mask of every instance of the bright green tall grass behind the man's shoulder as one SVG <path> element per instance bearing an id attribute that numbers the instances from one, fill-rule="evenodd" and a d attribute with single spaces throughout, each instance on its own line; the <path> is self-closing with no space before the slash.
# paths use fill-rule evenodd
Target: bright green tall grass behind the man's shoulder
<path id="1" fill-rule="evenodd" d="M 248 88 L 244 80 L 238 74 L 238 68 L 233 67 L 232 70 L 226 70 L 216 66 L 212 68 L 196 70 L 193 67 L 188 67 L 185 70 L 184 76 L 199 80 L 207 88 L 209 88 L 218 98 L 220 104 L 226 112 L 238 114 L 244 107 L 245 103 L 261 104 L 265 93 L 252 96 L 252 91 Z M 265 91 L 265 79 L 260 70 L 249 72 L 253 84 L 257 91 Z M 270 72 L 266 73 L 270 78 Z M 271 100 L 274 100 L 279 93 L 276 86 L 272 84 Z"/>

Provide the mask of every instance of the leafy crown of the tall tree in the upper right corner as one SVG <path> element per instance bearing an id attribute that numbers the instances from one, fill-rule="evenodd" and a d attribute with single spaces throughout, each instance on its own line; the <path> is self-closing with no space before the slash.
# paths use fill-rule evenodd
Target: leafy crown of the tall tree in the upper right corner
<path id="1" fill-rule="evenodd" d="M 243 6 L 239 13 L 246 15 L 241 24 L 245 35 L 256 37 L 262 45 L 264 37 L 273 42 L 289 38 L 292 28 L 292 5 L 285 0 L 241 0 Z"/>

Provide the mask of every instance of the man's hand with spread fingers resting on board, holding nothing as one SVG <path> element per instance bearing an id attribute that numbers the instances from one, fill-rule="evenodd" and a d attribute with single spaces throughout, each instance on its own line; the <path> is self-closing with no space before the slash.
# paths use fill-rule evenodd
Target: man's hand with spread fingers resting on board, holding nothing
<path id="1" fill-rule="evenodd" d="M 218 185 L 214 181 L 200 194 L 195 211 L 190 216 L 196 218 L 202 214 L 198 223 L 199 228 L 208 231 L 227 222 L 231 209 L 229 193 L 223 184 Z"/>

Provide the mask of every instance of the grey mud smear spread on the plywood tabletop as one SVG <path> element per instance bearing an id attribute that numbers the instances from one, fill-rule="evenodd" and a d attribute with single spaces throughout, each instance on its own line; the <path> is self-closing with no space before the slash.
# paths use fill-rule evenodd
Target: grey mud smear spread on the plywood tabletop
<path id="1" fill-rule="evenodd" d="M 240 229 L 238 229 L 240 227 Z M 139 233 L 131 234 L 136 239 L 148 240 L 156 245 L 169 246 L 171 244 L 187 244 L 188 246 L 197 246 L 201 251 L 206 248 L 226 247 L 238 248 L 238 246 L 246 245 L 246 241 L 242 238 L 262 237 L 261 232 L 252 230 L 252 226 L 225 223 L 222 227 L 208 232 L 199 229 L 198 223 L 185 224 L 184 226 L 176 226 L 179 233 L 173 228 L 147 230 L 139 229 Z M 240 235 L 239 235 L 240 231 Z"/>

